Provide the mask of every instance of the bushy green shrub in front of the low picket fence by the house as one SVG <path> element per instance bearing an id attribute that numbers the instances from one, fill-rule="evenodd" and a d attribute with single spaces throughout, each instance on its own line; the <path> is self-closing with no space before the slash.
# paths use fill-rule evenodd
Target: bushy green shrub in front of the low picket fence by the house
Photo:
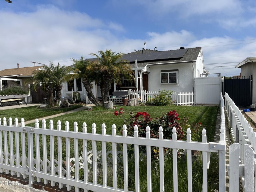
<path id="1" fill-rule="evenodd" d="M 164 90 L 159 90 L 159 94 L 155 95 L 155 98 L 152 99 L 152 104 L 153 105 L 171 105 L 173 103 L 172 101 L 172 94 L 174 91 L 166 91 Z"/>

